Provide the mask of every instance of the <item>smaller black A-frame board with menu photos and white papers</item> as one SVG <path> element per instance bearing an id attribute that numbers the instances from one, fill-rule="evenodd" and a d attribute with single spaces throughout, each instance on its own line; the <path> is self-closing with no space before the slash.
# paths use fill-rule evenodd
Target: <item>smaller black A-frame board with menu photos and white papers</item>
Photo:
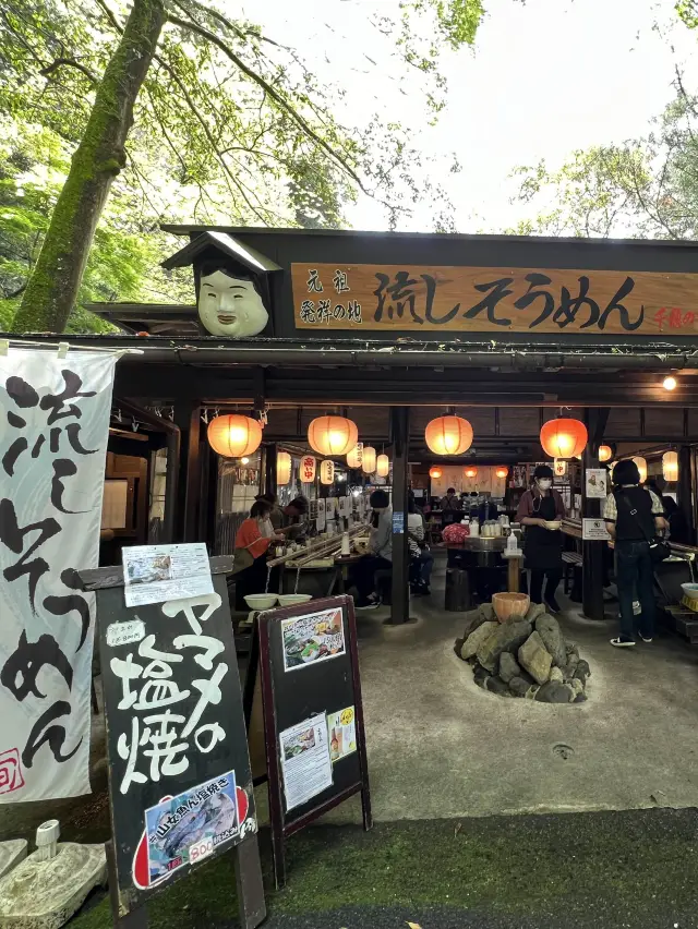
<path id="1" fill-rule="evenodd" d="M 263 613 L 260 668 L 277 886 L 285 838 L 361 794 L 371 794 L 353 600 L 335 596 Z"/>

